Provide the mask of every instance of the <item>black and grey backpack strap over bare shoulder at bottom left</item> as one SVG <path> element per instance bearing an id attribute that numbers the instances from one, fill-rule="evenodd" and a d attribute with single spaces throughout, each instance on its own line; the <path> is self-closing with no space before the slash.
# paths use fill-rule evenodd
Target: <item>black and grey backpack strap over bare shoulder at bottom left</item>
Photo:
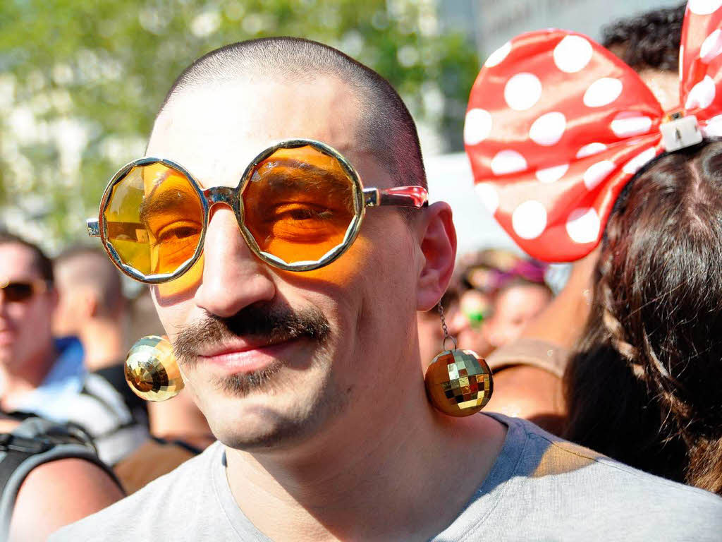
<path id="1" fill-rule="evenodd" d="M 7 538 L 17 493 L 30 471 L 43 463 L 68 458 L 94 463 L 125 493 L 116 474 L 97 457 L 92 442 L 77 428 L 30 418 L 13 433 L 0 434 L 0 540 Z"/>

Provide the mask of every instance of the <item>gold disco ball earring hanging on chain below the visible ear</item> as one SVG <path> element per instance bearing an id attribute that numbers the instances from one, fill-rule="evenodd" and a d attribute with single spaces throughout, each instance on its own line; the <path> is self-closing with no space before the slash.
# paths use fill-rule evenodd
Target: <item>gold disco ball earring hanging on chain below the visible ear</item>
<path id="1" fill-rule="evenodd" d="M 444 351 L 426 370 L 426 395 L 437 410 L 448 416 L 471 416 L 482 410 L 492 397 L 492 371 L 476 352 L 456 348 L 456 339 L 446 327 L 443 307 L 440 303 L 438 307 L 444 330 L 441 345 Z M 452 350 L 446 350 L 448 339 L 453 342 Z"/>

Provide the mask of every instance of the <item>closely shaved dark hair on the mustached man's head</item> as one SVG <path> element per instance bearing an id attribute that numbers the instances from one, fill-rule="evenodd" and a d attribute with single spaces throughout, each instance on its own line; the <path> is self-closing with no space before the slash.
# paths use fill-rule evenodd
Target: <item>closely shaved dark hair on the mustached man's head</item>
<path id="1" fill-rule="evenodd" d="M 175 80 L 158 116 L 183 93 L 233 83 L 276 80 L 344 82 L 356 98 L 357 150 L 368 152 L 396 186 L 426 186 L 416 125 L 396 90 L 379 74 L 341 51 L 300 38 L 261 38 L 233 43 L 201 56 Z"/>

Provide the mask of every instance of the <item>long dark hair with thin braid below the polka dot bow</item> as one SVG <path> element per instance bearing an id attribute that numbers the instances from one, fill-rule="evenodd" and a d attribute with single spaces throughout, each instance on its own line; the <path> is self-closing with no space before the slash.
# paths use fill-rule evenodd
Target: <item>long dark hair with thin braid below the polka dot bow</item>
<path id="1" fill-rule="evenodd" d="M 722 142 L 705 142 L 650 163 L 609 216 L 567 436 L 722 493 L 721 381 Z"/>

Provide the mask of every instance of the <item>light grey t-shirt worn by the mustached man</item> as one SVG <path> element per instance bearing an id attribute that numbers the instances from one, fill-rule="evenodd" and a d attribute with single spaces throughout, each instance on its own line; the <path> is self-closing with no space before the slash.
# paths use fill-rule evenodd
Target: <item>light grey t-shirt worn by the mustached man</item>
<path id="1" fill-rule="evenodd" d="M 722 540 L 718 496 L 627 467 L 528 421 L 490 416 L 508 426 L 503 449 L 471 502 L 433 541 Z M 216 442 L 50 540 L 269 538 L 235 503 L 225 476 L 224 447 Z"/>

